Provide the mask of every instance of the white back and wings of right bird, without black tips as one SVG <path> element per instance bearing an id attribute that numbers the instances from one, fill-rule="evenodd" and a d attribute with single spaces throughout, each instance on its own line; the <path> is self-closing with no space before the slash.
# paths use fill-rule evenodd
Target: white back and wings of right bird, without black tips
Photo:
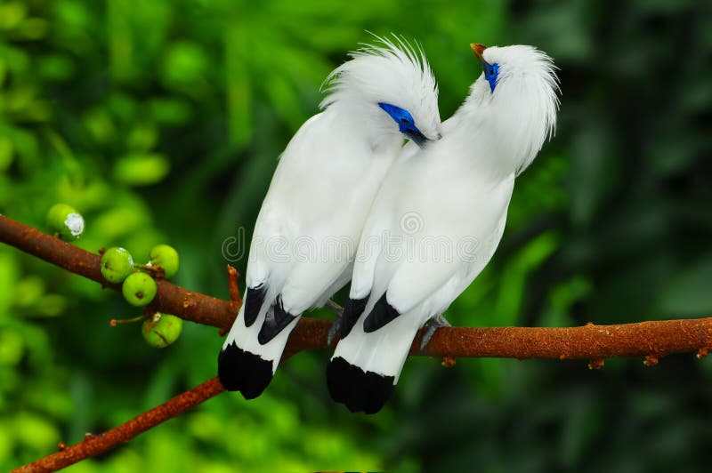
<path id="1" fill-rule="evenodd" d="M 490 261 L 514 175 L 493 183 L 440 154 L 401 157 L 364 227 L 351 297 L 371 293 L 373 299 L 387 292 L 388 301 L 404 313 L 453 277 L 466 287 Z"/>

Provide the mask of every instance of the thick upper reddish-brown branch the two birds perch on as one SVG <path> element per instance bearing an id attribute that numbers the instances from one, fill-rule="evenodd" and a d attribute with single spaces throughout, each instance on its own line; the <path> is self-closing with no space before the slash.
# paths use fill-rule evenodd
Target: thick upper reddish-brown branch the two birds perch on
<path id="1" fill-rule="evenodd" d="M 100 283 L 100 257 L 36 228 L 0 215 L 0 242 L 49 261 Z M 237 272 L 229 269 L 231 297 L 239 298 Z M 193 293 L 166 280 L 158 280 L 158 295 L 151 309 L 174 314 L 198 324 L 230 328 L 239 310 L 239 301 L 223 301 Z M 331 322 L 302 317 L 289 338 L 286 353 L 303 349 L 326 348 Z M 593 325 L 567 328 L 538 327 L 445 327 L 433 334 L 423 353 L 417 347 L 412 355 L 432 357 L 512 357 L 602 359 L 608 357 L 664 357 L 672 353 L 712 348 L 712 317 L 661 320 L 624 325 Z"/>

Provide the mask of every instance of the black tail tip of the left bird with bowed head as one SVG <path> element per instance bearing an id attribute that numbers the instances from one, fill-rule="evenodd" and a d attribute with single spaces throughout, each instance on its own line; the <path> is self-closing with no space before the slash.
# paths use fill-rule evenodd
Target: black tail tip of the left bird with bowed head
<path id="1" fill-rule="evenodd" d="M 240 349 L 232 342 L 217 357 L 217 375 L 225 389 L 239 391 L 242 397 L 254 399 L 272 381 L 272 362 Z"/>

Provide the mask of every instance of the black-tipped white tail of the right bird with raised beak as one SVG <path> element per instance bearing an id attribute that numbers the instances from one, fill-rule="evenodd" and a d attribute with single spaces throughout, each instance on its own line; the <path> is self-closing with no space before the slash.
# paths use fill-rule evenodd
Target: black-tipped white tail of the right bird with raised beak
<path id="1" fill-rule="evenodd" d="M 380 411 L 398 382 L 418 328 L 411 317 L 401 316 L 368 333 L 359 321 L 328 362 L 331 397 L 352 413 Z"/>

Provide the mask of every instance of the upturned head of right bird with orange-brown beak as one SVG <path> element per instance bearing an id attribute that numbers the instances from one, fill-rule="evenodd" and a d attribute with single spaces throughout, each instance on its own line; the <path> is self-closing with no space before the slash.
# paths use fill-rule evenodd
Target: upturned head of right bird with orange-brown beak
<path id="1" fill-rule="evenodd" d="M 485 123 L 493 124 L 514 156 L 516 172 L 522 172 L 554 133 L 560 92 L 554 63 L 532 46 L 470 47 L 482 67 L 470 99 L 487 114 Z"/>

